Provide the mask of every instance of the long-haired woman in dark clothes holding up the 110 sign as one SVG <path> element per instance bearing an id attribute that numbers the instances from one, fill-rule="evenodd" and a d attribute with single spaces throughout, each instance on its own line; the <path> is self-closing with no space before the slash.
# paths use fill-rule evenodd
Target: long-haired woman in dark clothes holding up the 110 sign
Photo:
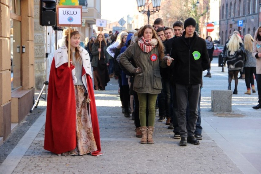
<path id="1" fill-rule="evenodd" d="M 109 66 L 108 54 L 106 52 L 107 43 L 102 34 L 98 34 L 92 47 L 93 60 L 93 80 L 95 90 L 105 90 L 105 86 L 110 81 L 107 66 Z"/>

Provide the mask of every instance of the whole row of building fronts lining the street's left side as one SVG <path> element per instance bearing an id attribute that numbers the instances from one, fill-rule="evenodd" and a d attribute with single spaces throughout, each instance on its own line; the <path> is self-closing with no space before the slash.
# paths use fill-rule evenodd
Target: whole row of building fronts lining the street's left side
<path id="1" fill-rule="evenodd" d="M 39 2 L 0 0 L 0 144 L 30 112 L 35 89 L 48 81 L 56 43 L 62 35 L 62 31 L 39 24 Z M 92 25 L 100 18 L 100 0 L 79 3 L 83 6 L 83 27 L 78 30 L 84 41 L 93 35 Z"/>

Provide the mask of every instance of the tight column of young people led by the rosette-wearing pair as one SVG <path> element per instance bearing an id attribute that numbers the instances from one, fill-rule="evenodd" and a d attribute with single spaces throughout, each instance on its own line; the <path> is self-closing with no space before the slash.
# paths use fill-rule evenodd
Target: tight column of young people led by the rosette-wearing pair
<path id="1" fill-rule="evenodd" d="M 202 71 L 210 70 L 210 58 L 207 39 L 197 35 L 196 25 L 195 19 L 188 18 L 184 25 L 176 21 L 173 28 L 164 27 L 157 18 L 153 26 L 116 32 L 107 39 L 107 53 L 114 60 L 110 78 L 119 82 L 122 112 L 135 120 L 142 144 L 154 143 L 156 108 L 158 121 L 166 119 L 173 138 L 181 139 L 180 146 L 197 145 L 202 139 L 200 91 Z"/>

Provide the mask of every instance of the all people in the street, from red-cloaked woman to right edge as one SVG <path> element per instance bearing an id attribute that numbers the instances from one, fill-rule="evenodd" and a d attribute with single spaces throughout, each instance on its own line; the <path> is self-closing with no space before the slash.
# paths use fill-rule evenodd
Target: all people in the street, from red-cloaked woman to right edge
<path id="1" fill-rule="evenodd" d="M 119 82 L 122 113 L 134 120 L 136 137 L 141 138 L 141 144 L 154 143 L 158 108 L 157 121 L 166 119 L 173 138 L 180 139 L 180 146 L 187 146 L 187 142 L 198 145 L 203 138 L 202 72 L 207 70 L 204 77 L 212 77 L 214 42 L 211 36 L 199 37 L 196 26 L 191 17 L 184 24 L 176 21 L 173 27 L 165 27 L 161 18 L 157 18 L 153 25 L 133 31 L 115 34 L 110 31 L 96 38 L 85 38 L 83 47 L 78 30 L 70 31 L 70 41 L 67 30 L 64 45 L 60 42 L 51 65 L 44 149 L 66 156 L 102 154 L 93 89 L 105 90 L 110 78 Z M 261 108 L 260 45 L 261 27 L 254 38 L 246 35 L 244 43 L 239 32 L 233 33 L 223 52 L 223 66 L 228 66 L 228 90 L 234 79 L 233 94 L 238 93 L 240 71 L 245 74 L 245 94 L 251 94 L 251 88 L 255 93 L 254 77 L 257 80 L 259 104 L 254 109 Z M 61 105 L 65 109 L 59 110 Z M 59 115 L 66 115 L 65 122 L 59 121 Z M 68 136 L 70 138 L 65 138 Z"/>

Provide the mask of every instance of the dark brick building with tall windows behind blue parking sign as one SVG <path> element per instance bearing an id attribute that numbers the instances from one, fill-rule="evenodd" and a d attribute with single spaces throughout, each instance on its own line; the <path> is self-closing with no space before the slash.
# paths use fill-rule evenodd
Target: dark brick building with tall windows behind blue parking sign
<path id="1" fill-rule="evenodd" d="M 260 1 L 260 0 L 259 0 Z M 254 36 L 259 26 L 258 0 L 221 0 L 220 4 L 220 41 L 224 45 L 229 34 L 239 31 L 241 36 Z"/>

